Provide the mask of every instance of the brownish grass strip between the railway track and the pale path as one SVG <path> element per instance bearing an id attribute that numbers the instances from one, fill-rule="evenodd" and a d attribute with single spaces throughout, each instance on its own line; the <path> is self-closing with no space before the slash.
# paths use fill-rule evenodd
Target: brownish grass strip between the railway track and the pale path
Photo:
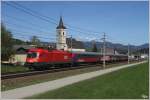
<path id="1" fill-rule="evenodd" d="M 107 67 L 121 66 L 124 64 L 126 63 L 125 62 L 114 63 L 114 64 L 107 65 Z M 61 72 L 48 73 L 48 74 L 33 75 L 33 76 L 27 76 L 27 77 L 22 77 L 22 78 L 1 80 L 1 91 L 6 91 L 6 90 L 20 88 L 20 87 L 24 87 L 28 85 L 37 84 L 37 83 L 52 81 L 55 79 L 82 74 L 82 73 L 87 73 L 87 72 L 92 72 L 92 71 L 96 71 L 99 69 L 100 69 L 100 66 L 83 68 L 83 69 L 75 69 L 75 70 L 69 70 L 69 71 L 61 71 Z"/>

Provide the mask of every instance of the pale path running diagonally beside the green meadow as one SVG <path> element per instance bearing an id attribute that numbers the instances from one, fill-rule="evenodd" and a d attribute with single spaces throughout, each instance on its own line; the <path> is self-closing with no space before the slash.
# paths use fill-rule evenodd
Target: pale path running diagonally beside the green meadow
<path id="1" fill-rule="evenodd" d="M 44 82 L 44 83 L 40 83 L 40 84 L 36 84 L 36 85 L 30 85 L 30 86 L 17 88 L 17 89 L 13 89 L 13 90 L 8 90 L 8 91 L 2 92 L 1 95 L 2 95 L 2 98 L 7 98 L 7 99 L 8 98 L 10 98 L 10 99 L 25 98 L 25 97 L 29 97 L 29 96 L 32 96 L 35 94 L 40 94 L 40 93 L 43 93 L 43 92 L 46 92 L 49 90 L 61 88 L 63 86 L 77 83 L 79 81 L 90 79 L 90 78 L 93 78 L 96 76 L 100 76 L 100 75 L 103 75 L 103 74 L 106 74 L 106 73 L 109 73 L 112 71 L 116 71 L 116 70 L 119 70 L 122 68 L 132 67 L 133 65 L 141 64 L 144 62 L 146 62 L 146 61 L 129 64 L 129 65 L 123 65 L 123 66 L 114 67 L 114 68 L 103 69 L 103 70 L 89 72 L 89 73 L 75 75 L 75 76 L 70 76 L 70 77 L 66 77 L 66 78 L 61 78 L 61 79 Z"/>

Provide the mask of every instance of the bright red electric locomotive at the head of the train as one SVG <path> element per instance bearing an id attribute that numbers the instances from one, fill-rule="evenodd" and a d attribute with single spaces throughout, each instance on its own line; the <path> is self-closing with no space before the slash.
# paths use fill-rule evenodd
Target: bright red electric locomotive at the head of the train
<path id="1" fill-rule="evenodd" d="M 25 66 L 33 69 L 48 69 L 53 65 L 71 64 L 72 54 L 62 50 L 30 49 Z"/>

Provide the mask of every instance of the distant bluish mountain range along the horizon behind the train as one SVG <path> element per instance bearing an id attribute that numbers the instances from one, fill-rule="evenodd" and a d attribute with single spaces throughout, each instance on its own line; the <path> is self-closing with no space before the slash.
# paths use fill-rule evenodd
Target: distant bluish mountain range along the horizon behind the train
<path id="1" fill-rule="evenodd" d="M 85 48 L 86 51 L 92 51 L 92 48 L 93 48 L 93 42 L 92 41 L 83 42 L 83 41 L 73 40 L 72 42 L 74 42 L 73 46 L 76 45 L 74 47 L 82 46 L 82 48 Z M 67 44 L 69 44 L 69 43 L 68 43 L 68 39 L 67 39 Z M 96 46 L 98 48 L 98 51 L 100 51 L 100 49 L 103 48 L 103 42 L 95 42 L 95 43 L 96 43 Z M 42 42 L 42 44 L 56 45 L 56 43 L 49 43 L 49 42 Z M 81 44 L 83 44 L 83 45 L 81 45 Z M 123 45 L 120 43 L 106 42 L 106 47 L 115 49 L 121 54 L 127 54 L 127 52 L 128 52 L 128 45 Z M 143 49 L 143 50 L 146 49 L 146 51 L 148 51 L 147 49 L 149 48 L 149 43 L 145 43 L 145 44 L 142 44 L 139 46 L 130 45 L 129 48 L 130 48 L 130 52 L 141 51 L 141 49 Z"/>

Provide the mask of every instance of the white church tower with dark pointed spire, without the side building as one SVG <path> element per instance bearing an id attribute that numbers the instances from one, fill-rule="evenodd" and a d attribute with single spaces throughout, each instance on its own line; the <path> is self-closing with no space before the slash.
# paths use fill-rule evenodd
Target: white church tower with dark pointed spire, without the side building
<path id="1" fill-rule="evenodd" d="M 57 43 L 56 48 L 58 50 L 67 50 L 67 43 L 66 43 L 66 27 L 63 24 L 62 17 L 60 17 L 59 25 L 56 27 L 57 32 Z"/>

